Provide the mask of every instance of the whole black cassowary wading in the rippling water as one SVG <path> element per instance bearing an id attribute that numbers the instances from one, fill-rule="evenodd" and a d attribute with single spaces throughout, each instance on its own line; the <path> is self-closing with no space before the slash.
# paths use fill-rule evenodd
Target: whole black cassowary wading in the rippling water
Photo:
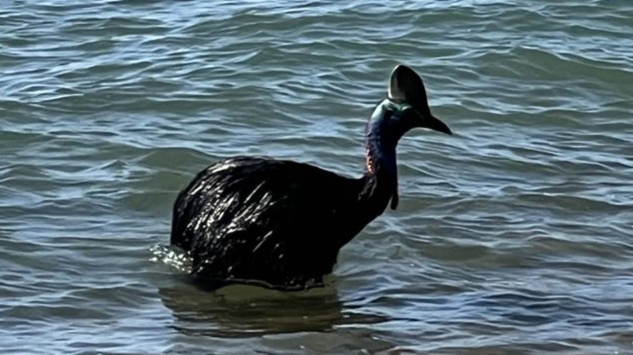
<path id="1" fill-rule="evenodd" d="M 223 160 L 199 172 L 180 192 L 171 244 L 191 255 L 194 279 L 206 287 L 322 286 L 341 247 L 390 201 L 392 209 L 398 206 L 396 145 L 418 127 L 451 134 L 431 114 L 422 78 L 398 65 L 387 99 L 368 123 L 361 178 L 289 160 Z"/>

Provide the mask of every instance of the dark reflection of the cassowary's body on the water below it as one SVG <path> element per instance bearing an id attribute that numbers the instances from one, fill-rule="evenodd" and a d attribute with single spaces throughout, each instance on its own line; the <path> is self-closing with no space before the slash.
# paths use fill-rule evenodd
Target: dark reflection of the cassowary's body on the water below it
<path id="1" fill-rule="evenodd" d="M 214 292 L 191 284 L 160 289 L 160 297 L 187 335 L 250 337 L 287 332 L 328 331 L 341 323 L 341 301 L 332 287 L 306 292 L 227 286 Z"/>

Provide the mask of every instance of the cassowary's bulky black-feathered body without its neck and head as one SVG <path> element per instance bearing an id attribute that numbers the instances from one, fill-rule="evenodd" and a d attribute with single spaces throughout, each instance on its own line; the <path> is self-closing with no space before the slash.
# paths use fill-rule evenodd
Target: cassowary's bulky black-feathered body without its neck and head
<path id="1" fill-rule="evenodd" d="M 288 160 L 225 160 L 179 196 L 172 244 L 193 251 L 192 272 L 208 282 L 318 286 L 339 249 L 384 211 L 386 182 Z"/>

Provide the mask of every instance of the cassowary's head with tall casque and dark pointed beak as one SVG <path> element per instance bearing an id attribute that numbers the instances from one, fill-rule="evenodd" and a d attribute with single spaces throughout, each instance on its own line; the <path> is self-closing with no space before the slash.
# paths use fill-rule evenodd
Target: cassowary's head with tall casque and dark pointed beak
<path id="1" fill-rule="evenodd" d="M 422 78 L 402 64 L 391 73 L 387 99 L 380 102 L 370 121 L 379 129 L 383 139 L 397 143 L 404 133 L 413 128 L 429 128 L 453 134 L 451 129 L 431 114 Z"/>

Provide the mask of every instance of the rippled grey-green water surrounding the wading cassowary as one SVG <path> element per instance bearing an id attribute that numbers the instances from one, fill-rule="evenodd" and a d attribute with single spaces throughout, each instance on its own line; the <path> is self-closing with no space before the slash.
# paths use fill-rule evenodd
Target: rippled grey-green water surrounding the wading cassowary
<path id="1" fill-rule="evenodd" d="M 3 354 L 632 353 L 632 33 L 624 0 L 3 2 Z M 397 63 L 456 135 L 401 141 L 327 287 L 173 267 L 208 164 L 359 176 Z"/>

